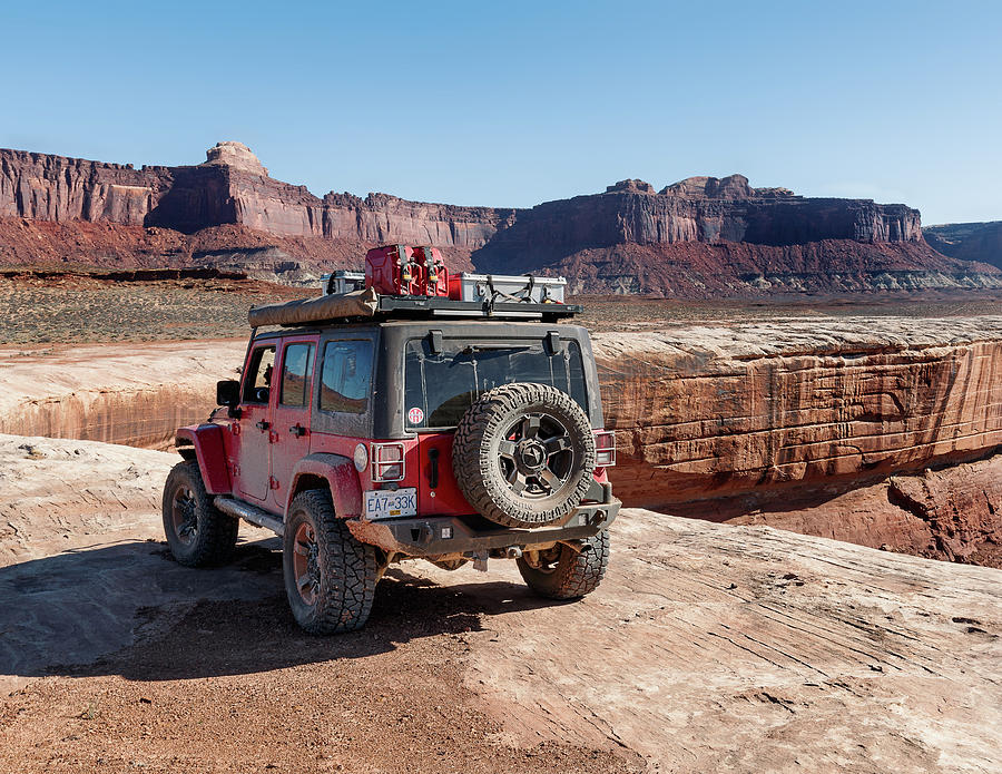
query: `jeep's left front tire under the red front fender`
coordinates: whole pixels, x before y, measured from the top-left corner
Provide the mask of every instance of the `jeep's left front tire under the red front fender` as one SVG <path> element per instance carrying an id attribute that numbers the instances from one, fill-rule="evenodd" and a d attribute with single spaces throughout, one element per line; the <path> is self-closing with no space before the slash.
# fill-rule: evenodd
<path id="1" fill-rule="evenodd" d="M 213 504 L 198 462 L 178 462 L 164 484 L 164 533 L 179 565 L 214 567 L 233 556 L 240 522 Z"/>

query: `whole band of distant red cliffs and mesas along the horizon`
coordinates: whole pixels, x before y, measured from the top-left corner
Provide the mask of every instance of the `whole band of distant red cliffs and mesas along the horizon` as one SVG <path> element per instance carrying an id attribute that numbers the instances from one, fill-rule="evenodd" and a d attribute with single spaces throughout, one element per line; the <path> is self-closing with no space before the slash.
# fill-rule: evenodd
<path id="1" fill-rule="evenodd" d="M 777 287 L 863 290 L 1002 282 L 1002 275 L 985 266 L 930 249 L 916 209 L 863 199 L 804 198 L 786 188 L 753 188 L 741 175 L 690 177 L 659 192 L 644 180 L 622 180 L 603 194 L 531 209 L 499 209 L 409 202 L 386 194 L 363 199 L 330 193 L 318 198 L 304 186 L 269 177 L 239 143 L 220 143 L 206 156 L 198 166 L 134 169 L 0 150 L 0 219 L 27 218 L 70 228 L 90 222 L 181 234 L 236 225 L 271 238 L 269 246 L 279 251 L 283 265 L 303 262 L 308 266 L 334 256 L 340 261 L 355 249 L 352 245 L 361 251 L 387 242 L 432 244 L 446 248 L 459 268 L 472 261 L 477 268 L 495 273 L 563 273 L 579 292 L 685 296 Z M 136 238 L 132 234 L 116 233 L 111 239 L 116 255 L 127 251 L 122 245 Z M 94 234 L 88 233 L 87 239 L 92 243 Z M 58 238 L 49 241 L 46 255 L 58 254 Z M 144 259 L 135 263 L 155 264 L 148 251 L 150 239 L 143 236 L 140 241 L 143 246 L 137 243 L 136 249 Z M 24 262 L 27 256 L 31 262 L 31 242 L 21 242 L 16 249 L 0 245 L 0 258 Z M 69 239 L 66 246 L 71 259 L 86 262 L 100 254 L 96 246 L 72 257 L 78 242 Z M 323 246 L 333 244 L 336 249 Z M 234 259 L 225 245 L 217 252 Z M 190 246 L 179 248 L 165 263 L 195 261 L 196 253 Z M 212 259 L 206 254 L 200 257 Z M 907 276 L 895 275 L 888 284 L 883 276 L 887 271 Z"/>

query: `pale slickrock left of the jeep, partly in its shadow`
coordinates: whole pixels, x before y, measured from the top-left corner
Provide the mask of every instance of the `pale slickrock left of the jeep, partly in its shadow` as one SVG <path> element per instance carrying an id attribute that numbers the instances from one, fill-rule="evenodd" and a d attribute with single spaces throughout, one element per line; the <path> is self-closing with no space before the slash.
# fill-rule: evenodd
<path id="1" fill-rule="evenodd" d="M 239 560 L 199 577 L 147 542 L 163 539 L 164 481 L 179 459 L 0 434 L 0 695 L 47 664 L 89 663 L 128 645 L 140 608 L 173 605 L 170 615 L 180 615 L 198 598 L 261 594 Z M 271 535 L 252 526 L 243 532 Z M 0 722 L 0 738 L 2 729 Z"/>

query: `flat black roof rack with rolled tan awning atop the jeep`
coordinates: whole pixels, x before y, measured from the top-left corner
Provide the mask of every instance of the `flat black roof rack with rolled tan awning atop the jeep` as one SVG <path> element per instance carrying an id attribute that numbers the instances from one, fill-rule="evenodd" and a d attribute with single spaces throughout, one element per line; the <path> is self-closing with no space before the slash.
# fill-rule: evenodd
<path id="1" fill-rule="evenodd" d="M 364 291 L 256 306 L 247 314 L 247 321 L 252 327 L 431 317 L 553 322 L 572 317 L 580 311 L 581 306 L 578 304 L 537 303 L 530 300 L 499 302 L 493 297 L 483 301 L 454 301 L 442 296 L 380 295 L 366 287 Z"/>

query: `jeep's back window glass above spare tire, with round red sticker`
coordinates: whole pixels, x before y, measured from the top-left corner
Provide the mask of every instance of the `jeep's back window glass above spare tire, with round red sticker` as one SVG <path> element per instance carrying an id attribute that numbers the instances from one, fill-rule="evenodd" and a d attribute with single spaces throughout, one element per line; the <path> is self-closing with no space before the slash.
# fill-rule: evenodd
<path id="1" fill-rule="evenodd" d="M 443 342 L 432 354 L 428 339 L 413 339 L 405 351 L 404 414 L 411 429 L 459 424 L 473 401 L 488 390 L 513 382 L 549 384 L 568 393 L 588 413 L 584 366 L 576 341 L 550 353 L 542 341 Z"/>

